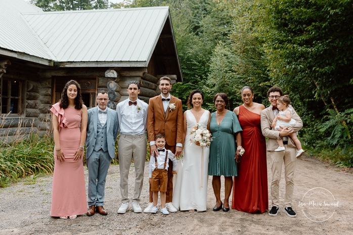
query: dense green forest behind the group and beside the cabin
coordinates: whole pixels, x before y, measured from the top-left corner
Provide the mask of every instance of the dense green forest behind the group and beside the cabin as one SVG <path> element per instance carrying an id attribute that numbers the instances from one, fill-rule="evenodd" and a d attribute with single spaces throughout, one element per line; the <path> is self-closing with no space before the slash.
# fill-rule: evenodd
<path id="1" fill-rule="evenodd" d="M 229 109 L 251 86 L 269 106 L 267 90 L 289 95 L 304 127 L 306 153 L 353 166 L 353 0 L 31 0 L 45 11 L 169 6 L 184 82 L 173 95 L 226 92 Z"/>

